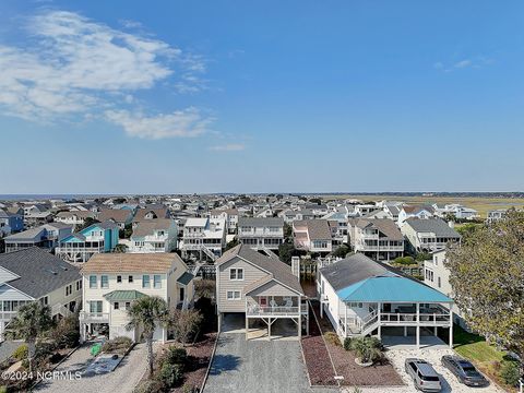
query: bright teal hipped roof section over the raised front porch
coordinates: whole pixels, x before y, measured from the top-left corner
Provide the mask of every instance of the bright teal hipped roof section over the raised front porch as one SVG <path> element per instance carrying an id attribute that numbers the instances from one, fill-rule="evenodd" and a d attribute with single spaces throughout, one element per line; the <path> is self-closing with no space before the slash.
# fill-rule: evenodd
<path id="1" fill-rule="evenodd" d="M 440 291 L 401 276 L 369 277 L 337 290 L 336 295 L 355 302 L 453 302 Z"/>

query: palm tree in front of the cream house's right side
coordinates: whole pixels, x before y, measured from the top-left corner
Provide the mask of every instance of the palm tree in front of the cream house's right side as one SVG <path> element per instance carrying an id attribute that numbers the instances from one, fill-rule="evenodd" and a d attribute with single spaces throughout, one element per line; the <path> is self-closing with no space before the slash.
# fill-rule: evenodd
<path id="1" fill-rule="evenodd" d="M 147 345 L 147 362 L 150 365 L 150 378 L 153 377 L 153 334 L 158 325 L 166 325 L 169 321 L 169 309 L 166 301 L 158 296 L 145 296 L 131 305 L 128 310 L 130 319 L 127 330 L 143 329 L 143 335 Z"/>

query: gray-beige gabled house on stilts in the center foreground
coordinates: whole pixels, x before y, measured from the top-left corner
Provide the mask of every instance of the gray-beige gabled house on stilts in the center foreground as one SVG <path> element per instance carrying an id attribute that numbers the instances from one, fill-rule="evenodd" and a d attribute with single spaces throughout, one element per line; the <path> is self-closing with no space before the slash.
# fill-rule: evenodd
<path id="1" fill-rule="evenodd" d="M 238 245 L 215 262 L 222 331 L 251 338 L 300 338 L 309 313 L 299 277 L 271 251 Z"/>

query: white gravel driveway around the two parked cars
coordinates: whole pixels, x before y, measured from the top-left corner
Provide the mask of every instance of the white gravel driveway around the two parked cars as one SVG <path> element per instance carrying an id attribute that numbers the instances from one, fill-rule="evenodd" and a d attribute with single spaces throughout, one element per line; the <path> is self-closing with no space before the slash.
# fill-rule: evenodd
<path id="1" fill-rule="evenodd" d="M 490 384 L 486 388 L 468 388 L 458 382 L 455 376 L 453 376 L 446 368 L 442 367 L 440 364 L 440 358 L 444 355 L 456 355 L 453 350 L 449 348 L 428 348 L 428 349 L 391 349 L 386 353 L 388 358 L 391 360 L 393 367 L 398 371 L 402 379 L 407 383 L 405 388 L 391 388 L 388 389 L 388 393 L 413 393 L 418 392 L 415 389 L 415 385 L 412 379 L 404 371 L 404 360 L 409 357 L 421 358 L 426 361 L 429 361 L 434 370 L 440 374 L 441 380 L 445 380 L 442 384 L 442 393 L 503 393 L 504 391 L 497 388 L 495 384 Z M 382 389 L 362 389 L 362 393 L 382 393 Z M 346 392 L 353 392 L 350 389 Z"/>

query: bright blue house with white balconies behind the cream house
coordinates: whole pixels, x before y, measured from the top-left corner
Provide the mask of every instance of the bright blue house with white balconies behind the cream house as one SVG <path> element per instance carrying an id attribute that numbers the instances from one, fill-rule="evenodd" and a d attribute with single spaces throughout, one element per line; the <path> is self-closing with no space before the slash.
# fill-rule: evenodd
<path id="1" fill-rule="evenodd" d="M 111 252 L 118 245 L 118 230 L 112 221 L 93 224 L 61 240 L 57 255 L 71 262 L 86 262 L 95 253 Z"/>

